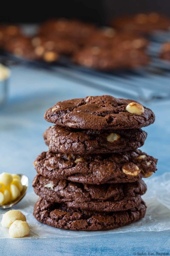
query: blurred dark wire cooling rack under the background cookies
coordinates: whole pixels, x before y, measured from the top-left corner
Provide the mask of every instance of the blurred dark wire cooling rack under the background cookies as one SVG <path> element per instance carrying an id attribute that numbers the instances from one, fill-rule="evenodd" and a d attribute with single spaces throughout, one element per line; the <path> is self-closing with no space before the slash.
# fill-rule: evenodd
<path id="1" fill-rule="evenodd" d="M 108 93 L 119 93 L 125 98 L 142 101 L 170 99 L 170 62 L 159 58 L 163 42 L 170 41 L 170 31 L 156 31 L 150 35 L 148 66 L 132 71 L 101 72 L 75 65 L 69 58 L 61 57 L 57 63 L 27 61 L 11 55 L 1 55 L 1 61 L 22 63 L 30 67 L 45 68 L 54 75 L 64 76 L 85 84 L 85 86 L 104 89 Z"/>

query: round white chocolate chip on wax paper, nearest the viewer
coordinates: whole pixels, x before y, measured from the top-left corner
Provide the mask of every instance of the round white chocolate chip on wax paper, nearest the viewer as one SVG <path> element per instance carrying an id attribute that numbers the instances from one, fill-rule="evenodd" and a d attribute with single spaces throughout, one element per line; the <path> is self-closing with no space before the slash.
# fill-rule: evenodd
<path id="1" fill-rule="evenodd" d="M 29 233 L 30 227 L 26 221 L 15 220 L 9 228 L 11 237 L 26 237 Z"/>

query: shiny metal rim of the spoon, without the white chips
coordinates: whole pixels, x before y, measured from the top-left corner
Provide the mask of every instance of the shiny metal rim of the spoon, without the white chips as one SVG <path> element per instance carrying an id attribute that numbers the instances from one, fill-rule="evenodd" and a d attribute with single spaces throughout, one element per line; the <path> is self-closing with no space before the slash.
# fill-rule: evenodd
<path id="1" fill-rule="evenodd" d="M 20 176 L 21 178 L 21 184 L 23 185 L 23 189 L 21 191 L 21 195 L 19 197 L 16 198 L 15 201 L 11 201 L 6 205 L 0 205 L 0 209 L 7 209 L 7 208 L 11 208 L 13 205 L 16 205 L 19 201 L 21 201 L 21 199 L 25 196 L 25 194 L 27 193 L 28 190 L 28 185 L 29 185 L 29 180 L 28 177 L 24 174 L 17 174 L 18 176 Z"/>

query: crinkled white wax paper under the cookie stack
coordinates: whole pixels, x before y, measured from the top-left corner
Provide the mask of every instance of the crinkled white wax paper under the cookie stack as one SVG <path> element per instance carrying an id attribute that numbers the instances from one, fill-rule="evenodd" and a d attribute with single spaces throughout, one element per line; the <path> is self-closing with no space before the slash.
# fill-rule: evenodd
<path id="1" fill-rule="evenodd" d="M 170 229 L 170 173 L 145 179 L 148 190 L 142 196 L 147 204 L 145 218 L 117 229 L 106 231 L 71 231 L 49 227 L 38 222 L 32 215 L 34 204 L 38 198 L 35 194 L 28 193 L 13 209 L 23 212 L 30 225 L 31 233 L 26 238 L 46 237 L 80 237 L 105 233 L 122 233 L 135 231 L 163 231 Z M 0 210 L 0 221 L 7 211 Z M 0 226 L 0 238 L 10 238 L 8 228 Z"/>

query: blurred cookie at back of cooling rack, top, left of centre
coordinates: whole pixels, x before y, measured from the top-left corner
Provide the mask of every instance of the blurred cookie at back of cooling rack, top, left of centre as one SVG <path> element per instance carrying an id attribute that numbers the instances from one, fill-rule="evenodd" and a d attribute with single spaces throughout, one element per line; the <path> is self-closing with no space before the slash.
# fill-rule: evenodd
<path id="1" fill-rule="evenodd" d="M 48 38 L 51 36 L 73 41 L 82 45 L 84 40 L 89 38 L 95 30 L 95 25 L 83 23 L 78 20 L 51 19 L 40 26 L 39 34 Z"/>

